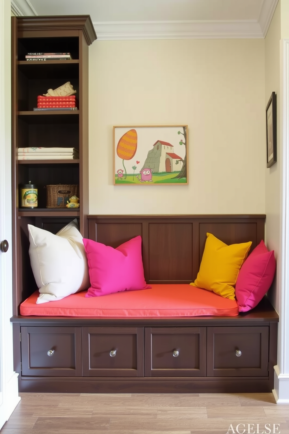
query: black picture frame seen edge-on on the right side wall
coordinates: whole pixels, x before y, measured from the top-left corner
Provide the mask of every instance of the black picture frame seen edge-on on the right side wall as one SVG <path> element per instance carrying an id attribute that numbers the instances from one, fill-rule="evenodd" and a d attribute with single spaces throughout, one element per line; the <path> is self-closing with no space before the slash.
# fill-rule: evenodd
<path id="1" fill-rule="evenodd" d="M 267 168 L 277 161 L 277 104 L 276 93 L 272 92 L 266 106 Z"/>

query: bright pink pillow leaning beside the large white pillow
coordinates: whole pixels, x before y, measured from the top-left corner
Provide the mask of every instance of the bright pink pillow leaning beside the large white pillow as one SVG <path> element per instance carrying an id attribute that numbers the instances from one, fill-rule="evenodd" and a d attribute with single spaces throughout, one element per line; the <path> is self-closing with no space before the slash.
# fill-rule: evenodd
<path id="1" fill-rule="evenodd" d="M 91 287 L 85 297 L 104 296 L 120 291 L 148 289 L 143 274 L 140 235 L 114 249 L 83 239 Z"/>

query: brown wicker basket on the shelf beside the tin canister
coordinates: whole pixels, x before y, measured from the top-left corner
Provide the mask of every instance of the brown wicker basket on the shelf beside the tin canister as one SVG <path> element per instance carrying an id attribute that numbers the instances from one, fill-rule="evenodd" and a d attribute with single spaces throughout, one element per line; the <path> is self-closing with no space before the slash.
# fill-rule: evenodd
<path id="1" fill-rule="evenodd" d="M 69 197 L 79 197 L 77 184 L 51 184 L 46 185 L 46 190 L 46 208 L 66 208 Z"/>

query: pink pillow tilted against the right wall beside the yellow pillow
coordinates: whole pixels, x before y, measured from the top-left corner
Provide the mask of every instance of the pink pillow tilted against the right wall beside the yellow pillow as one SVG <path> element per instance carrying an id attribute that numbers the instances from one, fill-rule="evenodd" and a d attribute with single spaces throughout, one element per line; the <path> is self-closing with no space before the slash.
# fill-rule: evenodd
<path id="1" fill-rule="evenodd" d="M 270 288 L 276 270 L 274 250 L 268 251 L 262 240 L 241 266 L 235 296 L 239 312 L 247 312 L 261 301 Z"/>

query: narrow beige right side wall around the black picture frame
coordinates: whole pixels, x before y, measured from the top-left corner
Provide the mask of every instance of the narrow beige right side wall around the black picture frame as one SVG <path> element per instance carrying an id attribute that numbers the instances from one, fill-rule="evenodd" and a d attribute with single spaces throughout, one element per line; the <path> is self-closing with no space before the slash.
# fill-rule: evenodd
<path id="1" fill-rule="evenodd" d="M 275 309 L 279 312 L 279 288 L 281 279 L 280 258 L 280 189 L 282 149 L 280 141 L 280 39 L 281 39 L 281 4 L 277 4 L 273 19 L 265 38 L 265 102 L 264 107 L 272 92 L 276 92 L 277 100 L 277 162 L 271 168 L 266 169 L 265 196 L 266 196 L 266 243 L 270 250 L 275 250 L 277 260 L 277 273 L 269 296 Z M 264 112 L 264 116 L 265 112 Z M 265 142 L 266 143 L 266 142 Z M 278 291 L 276 290 L 278 288 Z"/>

